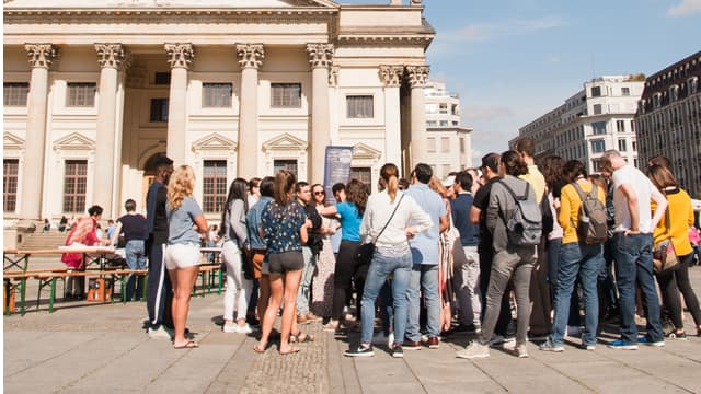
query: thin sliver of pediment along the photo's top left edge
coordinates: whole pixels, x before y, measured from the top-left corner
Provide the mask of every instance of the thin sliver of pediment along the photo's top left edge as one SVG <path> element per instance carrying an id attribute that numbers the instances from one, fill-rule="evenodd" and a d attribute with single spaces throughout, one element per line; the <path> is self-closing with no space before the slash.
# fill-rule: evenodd
<path id="1" fill-rule="evenodd" d="M 10 0 L 4 9 L 261 9 L 338 8 L 330 0 Z"/>

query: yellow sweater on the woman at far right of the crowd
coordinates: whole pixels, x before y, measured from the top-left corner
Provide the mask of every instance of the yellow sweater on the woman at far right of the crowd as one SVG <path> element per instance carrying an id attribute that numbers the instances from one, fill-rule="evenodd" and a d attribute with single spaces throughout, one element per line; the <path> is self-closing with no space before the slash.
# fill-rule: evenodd
<path id="1" fill-rule="evenodd" d="M 687 192 L 676 189 L 667 192 L 667 200 L 669 205 L 669 232 L 667 231 L 667 215 L 662 217 L 659 223 L 653 232 L 655 239 L 654 245 L 671 235 L 671 243 L 675 245 L 677 256 L 686 256 L 692 252 L 691 242 L 689 242 L 689 227 L 693 225 L 693 208 L 691 207 L 691 198 Z M 652 211 L 655 211 L 655 204 L 652 205 Z"/>

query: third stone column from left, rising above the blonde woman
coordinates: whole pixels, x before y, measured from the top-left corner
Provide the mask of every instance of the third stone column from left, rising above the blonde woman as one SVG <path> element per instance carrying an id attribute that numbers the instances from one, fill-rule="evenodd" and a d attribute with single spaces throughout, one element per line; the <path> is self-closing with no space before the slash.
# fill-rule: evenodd
<path id="1" fill-rule="evenodd" d="M 171 92 L 168 103 L 168 143 L 165 152 L 174 165 L 185 164 L 185 134 L 187 131 L 187 69 L 192 62 L 193 45 L 165 44 L 171 65 Z"/>

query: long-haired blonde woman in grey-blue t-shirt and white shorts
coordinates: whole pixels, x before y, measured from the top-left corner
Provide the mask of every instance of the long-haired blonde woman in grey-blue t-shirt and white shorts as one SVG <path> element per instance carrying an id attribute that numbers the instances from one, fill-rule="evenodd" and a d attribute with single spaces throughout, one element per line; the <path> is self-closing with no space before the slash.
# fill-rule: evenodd
<path id="1" fill-rule="evenodd" d="M 175 349 L 197 348 L 199 345 L 185 337 L 185 323 L 189 311 L 189 294 L 197 279 L 202 262 L 200 239 L 208 234 L 207 220 L 193 198 L 195 172 L 189 165 L 179 166 L 168 183 L 168 246 L 165 267 L 173 283 L 173 325 Z"/>

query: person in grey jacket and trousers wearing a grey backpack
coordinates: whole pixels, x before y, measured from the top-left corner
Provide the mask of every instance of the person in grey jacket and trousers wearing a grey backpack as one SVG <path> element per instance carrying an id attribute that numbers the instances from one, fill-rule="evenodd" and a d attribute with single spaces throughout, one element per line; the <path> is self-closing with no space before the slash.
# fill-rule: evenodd
<path id="1" fill-rule="evenodd" d="M 486 228 L 493 236 L 494 259 L 486 294 L 484 322 L 480 337 L 456 354 L 459 358 L 490 357 L 490 340 L 499 316 L 502 294 L 512 276 L 516 292 L 518 325 L 516 346 L 519 358 L 526 349 L 530 315 L 530 276 L 536 264 L 536 244 L 542 233 L 541 212 L 536 193 L 529 183 L 517 178 L 528 171 L 520 154 L 507 151 L 499 161 L 503 179 L 492 185 L 486 211 Z"/>

